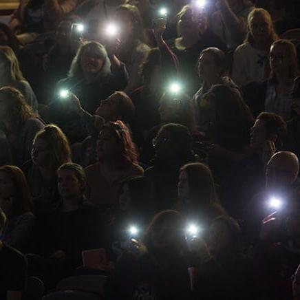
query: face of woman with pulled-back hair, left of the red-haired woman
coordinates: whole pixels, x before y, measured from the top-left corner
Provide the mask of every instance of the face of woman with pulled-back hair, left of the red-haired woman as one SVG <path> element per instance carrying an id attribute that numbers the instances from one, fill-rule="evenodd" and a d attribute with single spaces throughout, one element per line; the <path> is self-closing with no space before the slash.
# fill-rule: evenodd
<path id="1" fill-rule="evenodd" d="M 58 171 L 57 186 L 59 195 L 65 199 L 80 197 L 84 188 L 84 184 L 78 180 L 74 171 L 67 169 Z"/>

